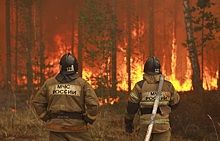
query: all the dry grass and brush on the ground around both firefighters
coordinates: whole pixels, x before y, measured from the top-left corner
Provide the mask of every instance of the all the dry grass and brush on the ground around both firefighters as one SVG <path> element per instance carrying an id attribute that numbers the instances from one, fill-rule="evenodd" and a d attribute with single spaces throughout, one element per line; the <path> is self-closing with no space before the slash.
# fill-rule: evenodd
<path id="1" fill-rule="evenodd" d="M 16 108 L 8 108 L 7 100 L 0 95 L 0 140 L 46 141 L 48 131 L 36 116 L 29 100 L 19 99 Z M 94 124 L 89 125 L 93 141 L 135 141 L 136 133 L 124 130 L 124 112 L 127 93 L 121 93 L 117 103 L 100 107 Z M 219 141 L 220 139 L 220 94 L 217 91 L 194 94 L 180 93 L 181 101 L 170 115 L 171 141 Z M 138 116 L 134 120 L 135 127 Z"/>

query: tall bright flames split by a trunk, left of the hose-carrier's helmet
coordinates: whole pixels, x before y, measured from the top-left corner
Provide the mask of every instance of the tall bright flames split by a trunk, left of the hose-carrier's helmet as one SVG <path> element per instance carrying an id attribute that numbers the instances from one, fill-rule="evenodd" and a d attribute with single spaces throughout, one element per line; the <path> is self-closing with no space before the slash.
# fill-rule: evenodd
<path id="1" fill-rule="evenodd" d="M 126 26 L 125 26 L 126 27 Z M 132 54 L 135 54 L 135 56 L 131 56 L 130 58 L 130 65 L 131 65 L 131 87 L 134 87 L 135 83 L 143 79 L 143 52 L 140 45 L 141 37 L 144 35 L 145 26 L 144 23 L 138 22 L 136 25 L 133 25 L 132 27 L 135 27 L 131 31 L 131 37 L 133 48 L 132 48 Z M 128 72 L 127 72 L 127 46 L 128 42 L 127 39 L 124 38 L 124 46 L 118 45 L 118 50 L 121 52 L 124 56 L 123 58 L 120 58 L 122 56 L 121 54 L 118 55 L 119 58 L 117 60 L 117 63 L 119 64 L 117 67 L 117 80 L 119 81 L 117 85 L 117 90 L 123 90 L 128 91 Z"/>

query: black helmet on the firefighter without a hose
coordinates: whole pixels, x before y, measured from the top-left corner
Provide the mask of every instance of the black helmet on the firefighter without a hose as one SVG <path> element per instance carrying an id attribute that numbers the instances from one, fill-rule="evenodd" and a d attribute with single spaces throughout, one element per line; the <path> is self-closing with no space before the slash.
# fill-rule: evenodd
<path id="1" fill-rule="evenodd" d="M 60 72 L 63 74 L 75 74 L 78 72 L 78 62 L 76 57 L 67 53 L 60 59 Z"/>

